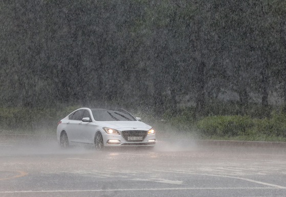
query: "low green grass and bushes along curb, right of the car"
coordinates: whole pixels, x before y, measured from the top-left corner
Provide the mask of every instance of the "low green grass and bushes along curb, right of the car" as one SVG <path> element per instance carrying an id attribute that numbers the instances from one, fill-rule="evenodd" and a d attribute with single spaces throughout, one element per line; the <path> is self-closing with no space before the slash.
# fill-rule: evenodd
<path id="1" fill-rule="evenodd" d="M 175 117 L 165 114 L 173 130 L 191 131 L 197 139 L 286 142 L 286 114 L 273 111 L 269 117 L 218 115 L 194 119 L 182 111 Z"/>

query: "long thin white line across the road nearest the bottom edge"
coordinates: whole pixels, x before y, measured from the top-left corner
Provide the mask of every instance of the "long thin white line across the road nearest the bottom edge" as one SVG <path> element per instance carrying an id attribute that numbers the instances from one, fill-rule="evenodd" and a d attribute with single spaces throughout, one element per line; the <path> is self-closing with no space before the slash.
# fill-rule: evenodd
<path id="1" fill-rule="evenodd" d="M 284 189 L 273 187 L 199 187 L 199 188 L 147 188 L 147 189 L 93 189 L 93 190 L 40 190 L 40 191 L 0 191 L 0 193 L 48 193 L 48 192 L 96 192 L 96 191 L 157 191 L 157 190 L 213 190 L 213 189 Z"/>

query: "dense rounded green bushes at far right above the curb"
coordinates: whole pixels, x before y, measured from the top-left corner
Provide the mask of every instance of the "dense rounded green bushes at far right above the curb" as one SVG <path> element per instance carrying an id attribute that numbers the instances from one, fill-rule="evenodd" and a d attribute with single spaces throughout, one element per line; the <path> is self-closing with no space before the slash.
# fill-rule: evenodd
<path id="1" fill-rule="evenodd" d="M 205 137 L 247 136 L 248 139 L 286 138 L 286 114 L 273 112 L 270 118 L 250 116 L 208 116 L 195 122 Z M 269 141 L 269 140 L 268 140 Z"/>

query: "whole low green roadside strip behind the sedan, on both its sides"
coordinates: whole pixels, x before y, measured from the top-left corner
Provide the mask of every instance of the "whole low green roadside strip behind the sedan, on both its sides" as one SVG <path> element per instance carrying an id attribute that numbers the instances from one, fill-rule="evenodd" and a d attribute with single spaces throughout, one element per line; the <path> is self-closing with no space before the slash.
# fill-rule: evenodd
<path id="1" fill-rule="evenodd" d="M 55 134 L 57 122 L 80 106 L 62 108 L 0 107 L 0 133 Z M 164 121 L 148 113 L 134 113 L 158 130 L 158 135 L 186 134 L 193 139 L 286 142 L 286 114 L 273 111 L 268 117 L 209 115 L 195 117 L 193 108 L 177 114 L 167 111 Z M 175 135 L 174 135 L 175 136 Z"/>

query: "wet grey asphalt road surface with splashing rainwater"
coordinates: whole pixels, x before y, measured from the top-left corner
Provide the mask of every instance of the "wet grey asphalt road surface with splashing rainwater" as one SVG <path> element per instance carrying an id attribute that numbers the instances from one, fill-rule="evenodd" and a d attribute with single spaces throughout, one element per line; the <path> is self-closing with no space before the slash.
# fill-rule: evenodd
<path id="1" fill-rule="evenodd" d="M 0 196 L 286 196 L 286 149 L 197 146 L 62 150 L 0 141 Z"/>

